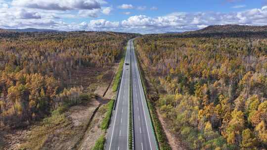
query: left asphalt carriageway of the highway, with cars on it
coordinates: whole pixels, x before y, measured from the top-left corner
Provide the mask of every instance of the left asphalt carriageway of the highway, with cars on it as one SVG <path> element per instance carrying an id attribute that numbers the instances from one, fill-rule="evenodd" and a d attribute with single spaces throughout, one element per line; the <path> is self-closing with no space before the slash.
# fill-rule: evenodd
<path id="1" fill-rule="evenodd" d="M 125 63 L 130 63 L 130 42 L 128 42 Z M 115 110 L 112 112 L 107 133 L 105 150 L 128 150 L 130 65 L 125 65 Z"/>

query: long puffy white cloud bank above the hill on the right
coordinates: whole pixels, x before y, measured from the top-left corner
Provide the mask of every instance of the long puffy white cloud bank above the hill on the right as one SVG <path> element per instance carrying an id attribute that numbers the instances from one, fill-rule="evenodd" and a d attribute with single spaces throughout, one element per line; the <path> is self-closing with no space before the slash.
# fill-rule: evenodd
<path id="1" fill-rule="evenodd" d="M 149 17 L 145 15 L 131 16 L 122 21 L 122 26 L 143 32 L 189 31 L 205 28 L 209 25 L 266 25 L 267 6 L 240 12 L 175 12 L 166 16 Z M 137 31 L 137 30 L 136 30 Z"/>

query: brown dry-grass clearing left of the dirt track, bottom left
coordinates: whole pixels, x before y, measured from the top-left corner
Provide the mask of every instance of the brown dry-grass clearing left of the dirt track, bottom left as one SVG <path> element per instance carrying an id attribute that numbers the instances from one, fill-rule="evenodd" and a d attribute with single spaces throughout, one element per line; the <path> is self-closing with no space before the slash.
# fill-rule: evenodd
<path id="1" fill-rule="evenodd" d="M 70 107 L 63 114 L 52 115 L 26 130 L 6 132 L 3 150 L 73 150 L 83 138 L 98 106 L 99 103 L 92 99 Z"/>

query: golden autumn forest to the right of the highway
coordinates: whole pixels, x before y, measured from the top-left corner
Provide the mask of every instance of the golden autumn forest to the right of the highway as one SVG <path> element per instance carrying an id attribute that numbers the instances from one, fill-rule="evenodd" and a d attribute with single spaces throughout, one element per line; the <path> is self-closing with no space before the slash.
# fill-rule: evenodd
<path id="1" fill-rule="evenodd" d="M 136 38 L 149 97 L 188 149 L 267 148 L 267 38 L 263 37 L 264 33 L 255 32 Z"/>

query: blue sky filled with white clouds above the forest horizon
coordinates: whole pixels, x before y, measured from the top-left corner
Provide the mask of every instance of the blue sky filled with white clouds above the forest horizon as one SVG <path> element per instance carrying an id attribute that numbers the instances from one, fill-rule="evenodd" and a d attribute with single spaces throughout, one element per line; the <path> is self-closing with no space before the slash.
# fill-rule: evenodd
<path id="1" fill-rule="evenodd" d="M 0 0 L 0 28 L 164 33 L 267 25 L 267 0 Z"/>

